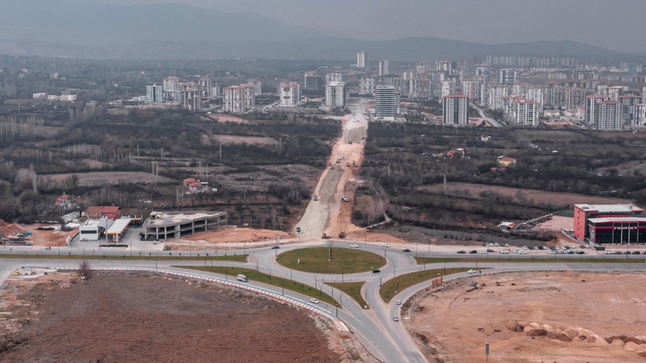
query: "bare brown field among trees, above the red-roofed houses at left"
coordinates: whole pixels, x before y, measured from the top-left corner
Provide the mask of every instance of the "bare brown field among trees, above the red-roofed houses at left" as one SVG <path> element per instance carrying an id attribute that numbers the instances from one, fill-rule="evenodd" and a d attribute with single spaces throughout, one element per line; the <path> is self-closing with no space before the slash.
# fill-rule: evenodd
<path id="1" fill-rule="evenodd" d="M 95 171 L 68 174 L 43 174 L 39 182 L 60 183 L 72 175 L 79 177 L 80 187 L 98 187 L 101 185 L 116 185 L 127 183 L 152 183 L 155 176 L 149 172 L 141 171 Z M 171 183 L 172 180 L 165 176 L 158 176 L 157 183 Z"/>

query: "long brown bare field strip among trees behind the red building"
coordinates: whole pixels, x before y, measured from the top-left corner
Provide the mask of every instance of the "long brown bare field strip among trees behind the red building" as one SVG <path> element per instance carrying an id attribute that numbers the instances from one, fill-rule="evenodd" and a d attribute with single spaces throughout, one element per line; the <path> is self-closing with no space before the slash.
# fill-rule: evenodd
<path id="1" fill-rule="evenodd" d="M 444 190 L 444 185 L 443 184 L 424 185 L 419 189 L 438 193 Z M 518 191 L 522 191 L 523 194 L 525 194 L 525 198 L 527 200 L 534 200 L 535 203 L 552 203 L 555 205 L 578 204 L 578 203 L 589 203 L 589 204 L 632 203 L 630 202 L 630 200 L 625 200 L 621 198 L 609 198 L 609 197 L 603 197 L 603 196 L 588 196 L 588 195 L 574 194 L 574 193 L 537 191 L 535 189 L 521 189 L 521 188 L 501 187 L 497 185 L 484 185 L 484 184 L 474 184 L 474 183 L 461 183 L 461 182 L 446 183 L 446 192 L 455 192 L 455 191 L 469 191 L 471 193 L 471 196 L 476 198 L 478 197 L 478 194 L 484 191 L 497 192 L 498 194 L 513 196 L 514 198 L 516 198 L 516 193 Z"/>

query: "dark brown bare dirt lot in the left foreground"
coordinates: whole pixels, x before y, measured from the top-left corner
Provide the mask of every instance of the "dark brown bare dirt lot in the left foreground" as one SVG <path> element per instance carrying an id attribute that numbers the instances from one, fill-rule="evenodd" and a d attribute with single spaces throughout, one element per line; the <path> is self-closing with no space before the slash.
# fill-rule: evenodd
<path id="1" fill-rule="evenodd" d="M 262 296 L 161 276 L 44 277 L 3 291 L 3 338 L 19 342 L 3 362 L 339 362 L 320 318 Z"/>

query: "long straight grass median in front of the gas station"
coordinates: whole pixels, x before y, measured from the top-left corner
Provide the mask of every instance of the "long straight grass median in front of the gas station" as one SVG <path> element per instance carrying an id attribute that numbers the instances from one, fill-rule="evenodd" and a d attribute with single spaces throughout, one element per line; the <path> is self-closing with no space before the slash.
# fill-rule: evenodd
<path id="1" fill-rule="evenodd" d="M 184 254 L 180 256 L 178 253 L 173 253 L 169 255 L 165 252 L 164 256 L 156 256 L 154 254 L 133 254 L 130 256 L 130 253 L 123 254 L 67 254 L 63 253 L 58 254 L 22 254 L 22 253 L 4 253 L 0 254 L 0 258 L 42 258 L 42 259 L 61 259 L 61 260 L 186 260 L 186 261 L 233 261 L 233 262 L 247 262 L 247 257 L 249 254 L 229 254 L 227 256 L 187 256 Z"/>

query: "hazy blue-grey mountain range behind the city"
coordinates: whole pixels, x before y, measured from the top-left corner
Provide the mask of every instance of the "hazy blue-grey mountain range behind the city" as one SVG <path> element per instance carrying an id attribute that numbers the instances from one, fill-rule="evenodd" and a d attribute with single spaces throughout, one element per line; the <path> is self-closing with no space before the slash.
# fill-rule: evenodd
<path id="1" fill-rule="evenodd" d="M 328 37 L 253 13 L 160 3 L 113 6 L 82 0 L 0 0 L 0 54 L 114 59 L 452 59 L 497 54 L 625 59 L 574 41 L 484 45 L 437 37 L 362 41 Z"/>

